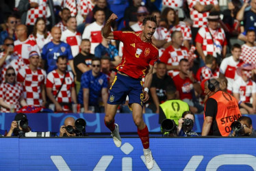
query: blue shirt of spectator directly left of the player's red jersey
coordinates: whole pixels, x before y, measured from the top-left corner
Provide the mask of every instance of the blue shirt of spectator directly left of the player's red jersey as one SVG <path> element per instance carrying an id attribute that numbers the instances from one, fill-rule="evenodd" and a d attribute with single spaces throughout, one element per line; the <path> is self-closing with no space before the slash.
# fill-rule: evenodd
<path id="1" fill-rule="evenodd" d="M 94 56 L 101 58 L 103 55 L 109 56 L 110 60 L 114 61 L 114 57 L 118 56 L 118 50 L 112 44 L 108 44 L 109 48 L 99 44 L 94 50 Z"/>

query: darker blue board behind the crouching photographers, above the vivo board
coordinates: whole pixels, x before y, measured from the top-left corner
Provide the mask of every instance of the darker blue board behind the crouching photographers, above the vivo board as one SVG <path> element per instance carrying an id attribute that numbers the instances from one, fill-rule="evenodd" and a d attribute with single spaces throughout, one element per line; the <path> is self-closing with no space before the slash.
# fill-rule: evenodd
<path id="1" fill-rule="evenodd" d="M 0 129 L 9 130 L 12 120 L 16 114 L 0 113 Z M 40 132 L 58 132 L 60 126 L 64 124 L 64 120 L 73 116 L 74 118 L 84 118 L 86 120 L 87 133 L 109 133 L 109 129 L 105 127 L 105 114 L 27 114 L 29 126 L 33 131 Z M 248 115 L 244 115 L 248 116 Z M 256 115 L 249 115 L 253 120 L 253 127 L 256 128 Z M 143 118 L 150 132 L 160 132 L 160 124 L 158 124 L 158 114 L 144 114 Z M 137 132 L 137 127 L 133 124 L 131 114 L 116 114 L 116 123 L 120 126 L 120 132 Z M 195 115 L 193 130 L 201 133 L 203 127 L 203 114 Z"/>

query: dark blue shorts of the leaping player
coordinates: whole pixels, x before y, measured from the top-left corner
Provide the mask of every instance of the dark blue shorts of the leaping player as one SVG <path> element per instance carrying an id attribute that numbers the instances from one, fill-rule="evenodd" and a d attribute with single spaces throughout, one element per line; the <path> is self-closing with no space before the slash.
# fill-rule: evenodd
<path id="1" fill-rule="evenodd" d="M 138 103 L 143 106 L 144 94 L 142 92 L 142 80 L 117 74 L 110 87 L 110 97 L 107 103 L 110 105 L 125 104 L 126 96 L 129 96 L 129 105 Z"/>

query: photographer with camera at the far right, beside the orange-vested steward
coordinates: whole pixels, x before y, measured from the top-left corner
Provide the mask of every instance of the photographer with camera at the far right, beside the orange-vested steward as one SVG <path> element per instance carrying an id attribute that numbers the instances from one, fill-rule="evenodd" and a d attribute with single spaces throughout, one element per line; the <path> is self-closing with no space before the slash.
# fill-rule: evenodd
<path id="1" fill-rule="evenodd" d="M 238 119 L 240 125 L 235 125 L 235 121 L 231 124 L 231 129 L 233 129 L 233 133 L 230 133 L 229 136 L 248 136 L 248 137 L 256 137 L 256 131 L 253 129 L 253 123 L 251 118 L 247 116 L 241 116 Z"/>

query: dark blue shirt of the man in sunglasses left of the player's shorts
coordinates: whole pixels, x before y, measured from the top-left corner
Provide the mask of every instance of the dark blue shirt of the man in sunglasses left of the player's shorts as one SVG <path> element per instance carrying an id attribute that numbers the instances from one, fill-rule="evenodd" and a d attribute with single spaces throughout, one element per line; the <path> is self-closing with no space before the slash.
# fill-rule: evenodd
<path id="1" fill-rule="evenodd" d="M 78 94 L 78 102 L 84 104 L 83 88 L 89 89 L 89 105 L 99 105 L 101 89 L 107 88 L 107 76 L 100 73 L 98 77 L 92 75 L 92 70 L 81 75 L 81 88 Z"/>

